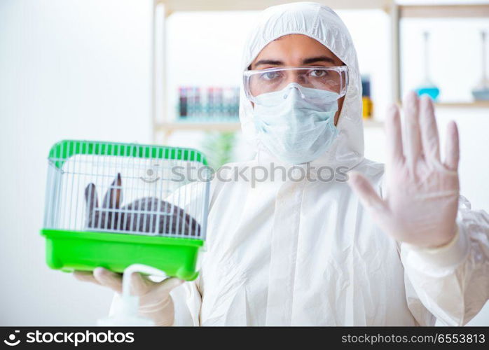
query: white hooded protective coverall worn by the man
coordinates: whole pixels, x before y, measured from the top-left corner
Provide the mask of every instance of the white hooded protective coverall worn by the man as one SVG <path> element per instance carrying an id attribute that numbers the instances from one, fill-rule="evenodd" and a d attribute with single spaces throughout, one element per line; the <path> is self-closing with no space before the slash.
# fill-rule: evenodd
<path id="1" fill-rule="evenodd" d="M 247 39 L 242 69 L 287 34 L 315 38 L 349 69 L 338 137 L 310 166 L 354 169 L 382 193 L 383 165 L 364 158 L 357 55 L 333 10 L 311 2 L 264 10 Z M 281 165 L 256 139 L 243 85 L 240 120 L 257 155 L 228 165 L 235 168 L 228 170 L 233 181 L 212 182 L 207 251 L 198 279 L 171 293 L 175 325 L 434 325 L 436 318 L 463 325 L 483 307 L 488 214 L 471 211 L 461 197 L 453 244 L 409 248 L 376 227 L 344 181 L 315 181 L 314 170 L 309 180 L 282 181 L 277 172 L 273 181 L 235 181 L 235 171 L 249 178 L 252 167 Z"/>

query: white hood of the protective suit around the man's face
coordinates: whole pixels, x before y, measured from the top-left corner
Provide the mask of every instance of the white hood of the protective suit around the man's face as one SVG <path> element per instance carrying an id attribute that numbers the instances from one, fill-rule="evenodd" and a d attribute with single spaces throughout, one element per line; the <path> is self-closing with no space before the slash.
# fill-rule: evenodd
<path id="1" fill-rule="evenodd" d="M 349 70 L 347 93 L 336 125 L 338 137 L 328 151 L 312 161 L 311 165 L 357 165 L 364 156 L 361 79 L 357 52 L 345 24 L 331 8 L 314 2 L 296 2 L 264 10 L 247 37 L 242 55 L 243 71 L 247 70 L 268 43 L 287 34 L 303 34 L 314 38 L 345 62 Z M 263 155 L 268 151 L 259 143 L 253 123 L 253 106 L 245 95 L 243 83 L 240 87 L 240 121 L 245 138 L 257 148 L 259 158 L 263 159 L 265 156 L 273 159 L 273 155 Z"/>

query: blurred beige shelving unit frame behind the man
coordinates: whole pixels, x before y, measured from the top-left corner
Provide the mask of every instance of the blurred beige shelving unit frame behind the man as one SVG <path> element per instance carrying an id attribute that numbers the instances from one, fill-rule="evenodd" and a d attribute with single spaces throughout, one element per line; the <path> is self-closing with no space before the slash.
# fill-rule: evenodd
<path id="1" fill-rule="evenodd" d="M 153 141 L 165 144 L 167 137 L 177 130 L 200 130 L 233 132 L 240 130 L 240 124 L 221 121 L 207 123 L 177 123 L 171 121 L 170 116 L 158 107 L 157 101 L 162 99 L 161 105 L 169 104 L 167 96 L 167 66 L 165 53 L 167 52 L 167 38 L 165 27 L 167 18 L 179 11 L 235 11 L 235 10 L 263 10 L 268 6 L 288 3 L 289 0 L 153 0 L 152 16 L 152 114 L 153 114 Z M 485 18 L 489 17 L 487 3 L 462 4 L 408 4 L 396 0 L 329 0 L 328 6 L 337 10 L 345 9 L 381 9 L 390 17 L 390 52 L 391 52 L 391 82 L 392 102 L 399 102 L 401 96 L 401 60 L 399 45 L 399 24 L 403 18 Z M 160 97 L 158 97 L 160 96 Z M 467 103 L 438 103 L 439 108 L 489 108 L 489 102 Z M 381 121 L 364 120 L 364 127 L 383 127 Z"/>

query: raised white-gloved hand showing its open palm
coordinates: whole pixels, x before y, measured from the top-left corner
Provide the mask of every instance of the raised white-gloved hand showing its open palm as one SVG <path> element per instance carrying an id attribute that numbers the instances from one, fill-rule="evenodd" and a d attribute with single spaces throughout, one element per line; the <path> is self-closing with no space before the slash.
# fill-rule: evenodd
<path id="1" fill-rule="evenodd" d="M 446 160 L 441 162 L 432 100 L 410 92 L 404 99 L 404 146 L 399 109 L 385 120 L 387 195 L 379 197 L 364 176 L 350 173 L 349 184 L 379 227 L 398 241 L 422 248 L 448 244 L 456 233 L 459 199 L 458 132 L 448 124 Z"/>

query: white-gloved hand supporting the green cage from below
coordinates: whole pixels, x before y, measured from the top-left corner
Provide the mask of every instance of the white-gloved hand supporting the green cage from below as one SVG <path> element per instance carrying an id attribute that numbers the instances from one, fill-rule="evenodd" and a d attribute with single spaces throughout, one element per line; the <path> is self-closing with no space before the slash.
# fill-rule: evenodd
<path id="1" fill-rule="evenodd" d="M 122 274 L 103 267 L 97 267 L 93 273 L 75 271 L 74 276 L 80 281 L 97 283 L 111 288 L 116 293 L 122 293 Z M 132 274 L 131 295 L 139 296 L 139 314 L 151 319 L 155 325 L 173 325 L 174 305 L 170 291 L 184 282 L 172 277 L 156 283 L 139 273 Z"/>

